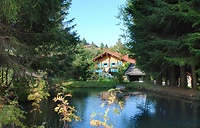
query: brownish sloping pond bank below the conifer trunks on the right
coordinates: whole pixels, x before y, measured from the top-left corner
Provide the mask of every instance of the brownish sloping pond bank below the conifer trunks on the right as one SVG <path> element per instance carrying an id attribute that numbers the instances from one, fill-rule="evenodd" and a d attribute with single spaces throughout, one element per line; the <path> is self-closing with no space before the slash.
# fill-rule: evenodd
<path id="1" fill-rule="evenodd" d="M 200 101 L 199 90 L 185 89 L 178 86 L 160 86 L 151 83 L 134 83 L 132 86 L 131 84 L 128 84 L 127 88 L 134 88 L 138 91 L 148 91 L 160 95 L 192 100 L 194 102 Z"/>

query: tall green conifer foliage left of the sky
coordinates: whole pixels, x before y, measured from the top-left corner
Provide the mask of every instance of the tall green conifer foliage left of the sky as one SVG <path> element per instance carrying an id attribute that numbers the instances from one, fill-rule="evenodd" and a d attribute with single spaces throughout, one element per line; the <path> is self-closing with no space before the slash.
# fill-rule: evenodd
<path id="1" fill-rule="evenodd" d="M 19 74 L 40 70 L 49 76 L 70 76 L 78 42 L 73 19 L 66 17 L 71 0 L 0 3 L 0 65 Z"/>

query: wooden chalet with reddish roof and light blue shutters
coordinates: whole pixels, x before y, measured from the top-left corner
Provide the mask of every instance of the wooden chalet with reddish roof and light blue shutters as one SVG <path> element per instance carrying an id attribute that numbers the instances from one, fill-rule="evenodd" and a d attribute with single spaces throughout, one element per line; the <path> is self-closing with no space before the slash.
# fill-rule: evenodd
<path id="1" fill-rule="evenodd" d="M 126 62 L 135 64 L 135 59 L 131 59 L 128 55 L 122 55 L 118 52 L 105 51 L 93 59 L 99 68 L 96 72 L 114 73 L 118 71 L 118 67 L 124 66 Z"/>

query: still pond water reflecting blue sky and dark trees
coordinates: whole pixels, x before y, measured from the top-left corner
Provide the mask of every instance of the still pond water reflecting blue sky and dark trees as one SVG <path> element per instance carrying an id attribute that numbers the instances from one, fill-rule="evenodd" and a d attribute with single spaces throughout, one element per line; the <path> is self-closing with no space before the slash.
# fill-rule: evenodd
<path id="1" fill-rule="evenodd" d="M 116 95 L 115 103 L 108 103 L 107 90 L 75 89 L 69 98 L 71 106 L 81 117 L 80 122 L 72 122 L 70 128 L 93 128 L 93 119 L 103 121 L 109 108 L 107 124 L 114 128 L 200 128 L 200 104 L 190 101 L 164 97 L 146 92 L 123 92 Z M 119 102 L 122 102 L 120 107 Z M 104 104 L 104 106 L 102 106 Z M 52 100 L 41 103 L 42 113 L 29 113 L 31 105 L 24 106 L 27 111 L 26 124 L 44 125 L 47 128 L 62 128 L 59 115 L 54 112 L 56 104 Z M 117 111 L 118 110 L 118 111 Z"/>

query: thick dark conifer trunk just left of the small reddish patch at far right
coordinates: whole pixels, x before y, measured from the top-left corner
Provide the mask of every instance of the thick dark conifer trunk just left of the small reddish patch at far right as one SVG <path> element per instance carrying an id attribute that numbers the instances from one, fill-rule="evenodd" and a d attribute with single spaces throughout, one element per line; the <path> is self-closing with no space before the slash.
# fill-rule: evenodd
<path id="1" fill-rule="evenodd" d="M 186 77 L 185 65 L 180 67 L 180 86 L 182 88 L 186 88 L 187 87 L 187 77 Z"/>

